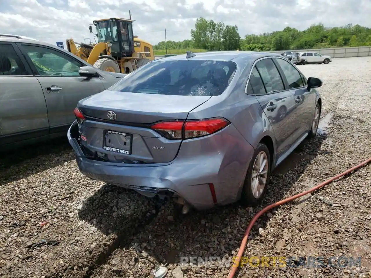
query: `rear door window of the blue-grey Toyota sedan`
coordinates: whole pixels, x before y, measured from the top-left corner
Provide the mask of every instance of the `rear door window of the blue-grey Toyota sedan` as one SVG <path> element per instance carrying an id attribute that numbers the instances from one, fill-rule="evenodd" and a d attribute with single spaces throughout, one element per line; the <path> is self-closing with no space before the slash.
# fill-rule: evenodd
<path id="1" fill-rule="evenodd" d="M 267 93 L 285 90 L 281 76 L 272 59 L 263 59 L 257 62 L 256 69 L 262 77 Z"/>

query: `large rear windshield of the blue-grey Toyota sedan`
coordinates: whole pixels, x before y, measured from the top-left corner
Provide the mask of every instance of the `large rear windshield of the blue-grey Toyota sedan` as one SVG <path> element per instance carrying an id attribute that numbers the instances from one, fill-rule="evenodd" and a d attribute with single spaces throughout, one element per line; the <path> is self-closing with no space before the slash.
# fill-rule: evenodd
<path id="1" fill-rule="evenodd" d="M 178 96 L 217 96 L 229 85 L 236 64 L 212 60 L 169 60 L 145 64 L 108 90 Z"/>

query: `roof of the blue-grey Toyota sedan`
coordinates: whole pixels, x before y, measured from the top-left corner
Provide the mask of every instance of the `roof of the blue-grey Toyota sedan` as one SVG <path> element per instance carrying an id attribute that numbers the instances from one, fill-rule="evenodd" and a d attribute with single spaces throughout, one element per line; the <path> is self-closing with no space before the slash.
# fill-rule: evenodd
<path id="1" fill-rule="evenodd" d="M 216 60 L 216 61 L 234 61 L 239 59 L 251 59 L 257 60 L 263 57 L 276 56 L 281 57 L 281 55 L 272 52 L 258 52 L 258 51 L 210 51 L 210 52 L 199 52 L 194 53 L 196 56 L 190 57 L 190 60 Z M 163 57 L 156 59 L 154 61 L 176 61 L 176 60 L 186 60 L 187 54 Z"/>

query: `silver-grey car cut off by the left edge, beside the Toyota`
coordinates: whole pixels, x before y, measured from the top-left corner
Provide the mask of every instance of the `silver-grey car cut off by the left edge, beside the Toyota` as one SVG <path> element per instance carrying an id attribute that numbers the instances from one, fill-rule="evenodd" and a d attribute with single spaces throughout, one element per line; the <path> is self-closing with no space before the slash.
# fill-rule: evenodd
<path id="1" fill-rule="evenodd" d="M 0 34 L 0 150 L 66 136 L 78 101 L 124 76 L 52 44 Z"/>

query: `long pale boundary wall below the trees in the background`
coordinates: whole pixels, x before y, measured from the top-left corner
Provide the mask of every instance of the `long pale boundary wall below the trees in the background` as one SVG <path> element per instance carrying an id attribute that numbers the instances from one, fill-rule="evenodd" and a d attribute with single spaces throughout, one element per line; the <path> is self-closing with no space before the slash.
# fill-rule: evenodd
<path id="1" fill-rule="evenodd" d="M 269 51 L 272 53 L 282 53 L 284 51 L 293 52 L 317 52 L 322 55 L 328 55 L 332 58 L 345 58 L 345 57 L 361 57 L 371 56 L 370 46 L 359 47 L 336 47 L 336 48 L 321 48 L 321 49 L 299 49 L 299 50 L 282 50 L 282 51 Z M 155 55 L 155 59 L 164 57 L 162 55 Z"/>

